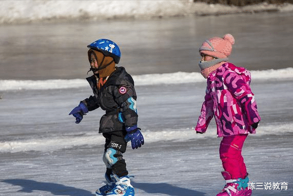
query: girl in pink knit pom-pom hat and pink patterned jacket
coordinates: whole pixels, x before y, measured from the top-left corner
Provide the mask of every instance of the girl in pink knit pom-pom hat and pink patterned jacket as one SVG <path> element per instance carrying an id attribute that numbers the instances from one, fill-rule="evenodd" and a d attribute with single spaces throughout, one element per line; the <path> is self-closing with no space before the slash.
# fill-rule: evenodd
<path id="1" fill-rule="evenodd" d="M 222 137 L 220 158 L 226 185 L 217 196 L 250 196 L 248 173 L 241 155 L 248 134 L 255 134 L 261 120 L 254 94 L 250 89 L 250 73 L 228 61 L 235 39 L 231 34 L 223 38 L 205 40 L 199 49 L 201 74 L 207 78 L 196 132 L 203 134 L 212 119 L 217 124 L 217 135 Z"/>

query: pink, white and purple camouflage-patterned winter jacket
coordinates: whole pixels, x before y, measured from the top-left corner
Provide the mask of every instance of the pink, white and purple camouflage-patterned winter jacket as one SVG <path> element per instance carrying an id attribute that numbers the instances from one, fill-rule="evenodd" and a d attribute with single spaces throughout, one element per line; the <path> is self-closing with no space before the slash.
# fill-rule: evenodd
<path id="1" fill-rule="evenodd" d="M 205 133 L 214 116 L 218 137 L 255 134 L 261 118 L 249 84 L 250 72 L 229 62 L 211 72 L 196 131 Z"/>

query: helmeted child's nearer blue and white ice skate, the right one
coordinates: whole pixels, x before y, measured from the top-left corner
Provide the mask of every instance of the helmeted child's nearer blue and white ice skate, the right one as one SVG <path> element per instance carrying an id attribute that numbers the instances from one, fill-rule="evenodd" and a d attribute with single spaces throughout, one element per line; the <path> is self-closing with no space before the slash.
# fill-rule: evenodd
<path id="1" fill-rule="evenodd" d="M 115 187 L 107 192 L 107 196 L 134 196 L 134 188 L 128 176 L 116 179 Z"/>

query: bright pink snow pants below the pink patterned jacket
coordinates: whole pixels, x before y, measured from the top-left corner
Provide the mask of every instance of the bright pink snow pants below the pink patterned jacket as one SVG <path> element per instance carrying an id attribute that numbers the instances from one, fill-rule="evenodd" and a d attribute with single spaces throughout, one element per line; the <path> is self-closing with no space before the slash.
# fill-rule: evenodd
<path id="1" fill-rule="evenodd" d="M 246 166 L 241 155 L 242 146 L 248 134 L 223 137 L 220 144 L 220 158 L 223 168 L 229 172 L 232 179 L 246 177 Z"/>

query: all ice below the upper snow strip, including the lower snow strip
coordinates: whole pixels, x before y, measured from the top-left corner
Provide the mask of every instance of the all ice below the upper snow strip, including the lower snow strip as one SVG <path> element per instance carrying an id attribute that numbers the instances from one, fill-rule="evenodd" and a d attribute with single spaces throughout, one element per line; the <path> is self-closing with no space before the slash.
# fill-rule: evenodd
<path id="1" fill-rule="evenodd" d="M 258 134 L 250 135 L 243 147 L 249 178 L 263 189 L 265 183 L 288 183 L 283 190 L 253 190 L 253 195 L 293 192 L 293 92 L 285 92 L 291 85 L 290 80 L 251 84 L 263 119 Z M 135 150 L 128 147 L 124 154 L 136 194 L 216 195 L 225 184 L 220 139 L 214 123 L 205 135 L 194 134 L 192 128 L 205 83 L 138 86 L 136 91 L 146 143 Z M 80 124 L 68 116 L 87 93 L 67 89 L 4 94 L 1 111 L 6 116 L 1 115 L 1 123 L 9 132 L 2 126 L 6 139 L 1 142 L 0 195 L 92 195 L 104 184 L 104 140 L 97 134 L 103 112 L 86 115 Z M 22 102 L 16 101 L 19 96 Z"/>

